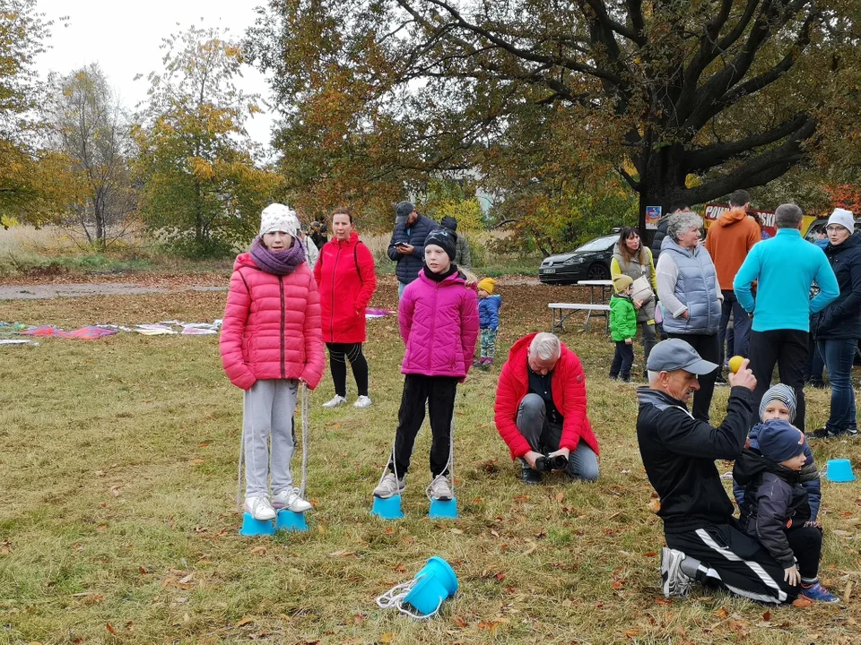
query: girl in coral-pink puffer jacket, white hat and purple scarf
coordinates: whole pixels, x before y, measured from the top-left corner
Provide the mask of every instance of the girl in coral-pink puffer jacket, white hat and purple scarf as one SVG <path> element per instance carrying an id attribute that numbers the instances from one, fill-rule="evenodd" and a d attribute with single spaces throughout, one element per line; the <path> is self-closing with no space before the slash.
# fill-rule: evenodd
<path id="1" fill-rule="evenodd" d="M 283 204 L 265 208 L 260 235 L 233 265 L 219 342 L 230 383 L 244 391 L 245 510 L 257 520 L 272 520 L 275 509 L 311 508 L 290 472 L 299 382 L 313 390 L 324 366 L 320 299 L 299 227 Z"/>

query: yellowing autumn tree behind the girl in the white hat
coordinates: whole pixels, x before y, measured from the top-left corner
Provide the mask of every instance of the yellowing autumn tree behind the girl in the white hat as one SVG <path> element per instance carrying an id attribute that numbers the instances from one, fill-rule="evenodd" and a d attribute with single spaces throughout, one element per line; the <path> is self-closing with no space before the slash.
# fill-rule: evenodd
<path id="1" fill-rule="evenodd" d="M 134 133 L 142 217 L 184 253 L 229 254 L 254 236 L 280 182 L 257 167 L 245 131 L 258 97 L 235 85 L 244 56 L 222 30 L 192 27 L 163 48 Z"/>

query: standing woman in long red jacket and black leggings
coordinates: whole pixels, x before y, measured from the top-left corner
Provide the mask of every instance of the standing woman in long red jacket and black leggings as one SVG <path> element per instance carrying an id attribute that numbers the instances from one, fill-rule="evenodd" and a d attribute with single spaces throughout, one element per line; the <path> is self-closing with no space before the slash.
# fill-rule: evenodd
<path id="1" fill-rule="evenodd" d="M 359 398 L 353 405 L 367 408 L 368 361 L 361 351 L 365 342 L 365 307 L 377 288 L 374 258 L 352 228 L 352 213 L 338 209 L 332 214 L 334 237 L 320 249 L 314 277 L 320 290 L 323 340 L 329 350 L 329 366 L 335 382 L 335 397 L 323 404 L 336 408 L 347 402 L 347 360 L 352 366 Z"/>

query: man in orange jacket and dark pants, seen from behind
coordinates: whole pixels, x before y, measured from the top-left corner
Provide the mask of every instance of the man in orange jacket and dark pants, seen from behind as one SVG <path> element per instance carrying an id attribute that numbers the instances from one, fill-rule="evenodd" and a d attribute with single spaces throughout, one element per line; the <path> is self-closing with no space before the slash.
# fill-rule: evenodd
<path id="1" fill-rule="evenodd" d="M 718 270 L 718 284 L 724 295 L 720 315 L 718 339 L 720 340 L 720 362 L 724 364 L 724 341 L 729 315 L 733 315 L 735 348 L 730 348 L 736 356 L 747 357 L 747 347 L 751 338 L 751 319 L 744 307 L 735 299 L 733 280 L 747 257 L 752 245 L 761 239 L 760 228 L 756 221 L 747 216 L 751 205 L 751 195 L 737 190 L 729 196 L 730 210 L 723 213 L 718 221 L 709 228 L 706 236 L 706 250 Z"/>

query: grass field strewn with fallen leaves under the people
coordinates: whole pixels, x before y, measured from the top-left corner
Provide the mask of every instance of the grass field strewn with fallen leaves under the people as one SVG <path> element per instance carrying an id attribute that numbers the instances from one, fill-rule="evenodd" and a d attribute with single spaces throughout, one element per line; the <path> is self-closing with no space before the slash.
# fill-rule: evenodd
<path id="1" fill-rule="evenodd" d="M 546 303 L 574 297 L 564 287 L 499 292 L 500 358 L 520 335 L 547 329 Z M 0 320 L 66 328 L 211 321 L 224 298 L 2 301 Z M 373 304 L 395 306 L 394 280 L 382 281 Z M 580 330 L 572 321 L 562 340 L 589 377 L 602 449 L 595 485 L 563 476 L 519 483 L 492 422 L 496 366 L 471 374 L 458 392 L 461 517 L 426 517 L 427 426 L 407 478 L 406 518 L 371 517 L 402 387 L 403 348 L 389 316 L 369 323 L 374 406 L 322 410 L 333 393 L 328 374 L 313 393 L 316 509 L 308 533 L 276 538 L 237 534 L 241 395 L 222 373 L 214 337 L 126 333 L 0 348 L 0 642 L 859 642 L 857 484 L 823 482 L 822 578 L 840 596 L 851 590 L 845 606 L 767 607 L 707 589 L 661 598 L 663 535 L 648 510 L 635 389 L 606 378 L 610 341 Z M 718 389 L 713 420 L 727 393 Z M 828 393 L 812 391 L 809 400 L 810 426 L 820 426 Z M 861 440 L 813 450 L 821 464 L 849 457 L 861 470 Z M 431 555 L 446 558 L 461 585 L 441 615 L 413 623 L 380 610 L 374 599 Z"/>

